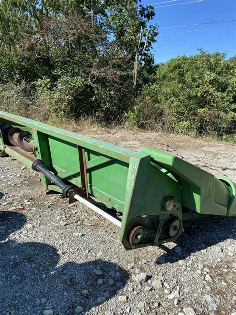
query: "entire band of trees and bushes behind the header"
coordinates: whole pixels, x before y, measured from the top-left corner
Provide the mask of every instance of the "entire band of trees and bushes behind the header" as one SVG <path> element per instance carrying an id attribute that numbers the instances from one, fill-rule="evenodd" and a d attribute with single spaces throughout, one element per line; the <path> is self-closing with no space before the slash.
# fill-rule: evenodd
<path id="1" fill-rule="evenodd" d="M 37 120 L 100 117 L 224 137 L 236 125 L 236 58 L 200 50 L 156 65 L 140 0 L 2 0 L 0 109 Z"/>

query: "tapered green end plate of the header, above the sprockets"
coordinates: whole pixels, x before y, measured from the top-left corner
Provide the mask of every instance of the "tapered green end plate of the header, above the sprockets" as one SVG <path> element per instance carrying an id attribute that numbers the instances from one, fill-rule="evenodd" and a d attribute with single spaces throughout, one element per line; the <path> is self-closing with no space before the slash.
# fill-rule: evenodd
<path id="1" fill-rule="evenodd" d="M 165 197 L 174 198 L 172 211 L 164 210 Z M 157 230 L 160 221 L 166 226 L 174 218 L 179 219 L 181 223 L 179 233 L 175 236 L 178 238 L 183 231 L 179 183 L 151 165 L 150 156 L 141 159 L 131 158 L 120 230 L 120 239 L 125 248 L 132 248 L 128 242 L 128 235 L 133 226 L 140 225 Z M 142 246 L 142 244 L 136 245 L 136 247 Z"/>

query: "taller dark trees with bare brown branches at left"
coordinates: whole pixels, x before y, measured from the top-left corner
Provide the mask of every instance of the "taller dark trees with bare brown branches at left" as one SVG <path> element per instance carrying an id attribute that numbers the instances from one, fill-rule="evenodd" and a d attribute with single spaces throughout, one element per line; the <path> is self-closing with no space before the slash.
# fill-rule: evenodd
<path id="1" fill-rule="evenodd" d="M 21 112 L 37 119 L 82 113 L 117 119 L 145 73 L 154 73 L 153 16 L 139 0 L 2 0 L 4 100 L 9 104 L 14 90 L 14 102 L 29 93 L 32 106 L 26 102 Z"/>

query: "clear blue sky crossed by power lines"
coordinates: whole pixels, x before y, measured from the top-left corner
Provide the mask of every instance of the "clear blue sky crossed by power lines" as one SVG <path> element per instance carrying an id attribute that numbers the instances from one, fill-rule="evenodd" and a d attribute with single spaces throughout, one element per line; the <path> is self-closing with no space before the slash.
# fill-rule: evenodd
<path id="1" fill-rule="evenodd" d="M 159 6 L 155 8 L 154 22 L 160 29 L 153 45 L 157 47 L 154 50 L 157 63 L 178 55 L 196 54 L 197 48 L 225 51 L 227 58 L 236 54 L 236 21 L 231 21 L 236 20 L 236 0 L 142 0 L 142 3 Z M 195 23 L 210 24 L 172 27 Z"/>

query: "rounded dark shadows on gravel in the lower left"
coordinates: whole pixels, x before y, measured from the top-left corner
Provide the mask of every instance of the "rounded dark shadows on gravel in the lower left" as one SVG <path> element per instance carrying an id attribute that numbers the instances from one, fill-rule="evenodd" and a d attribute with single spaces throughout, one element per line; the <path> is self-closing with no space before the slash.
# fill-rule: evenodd
<path id="1" fill-rule="evenodd" d="M 0 226 L 5 227 L 0 229 L 0 241 L 4 241 L 0 242 L 0 314 L 12 311 L 31 315 L 45 310 L 53 310 L 53 315 L 75 314 L 76 307 L 87 312 L 114 297 L 128 280 L 128 273 L 114 263 L 95 260 L 60 264 L 60 255 L 50 245 L 7 240 L 10 231 L 25 223 L 23 214 L 0 212 Z M 61 254 L 66 261 L 66 253 Z M 78 254 L 74 253 L 75 257 Z M 103 283 L 99 285 L 100 278 Z M 114 285 L 111 280 L 109 285 L 109 279 L 116 279 Z"/>

